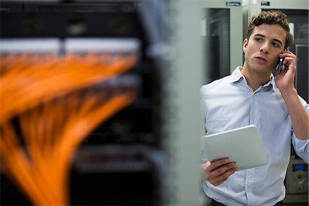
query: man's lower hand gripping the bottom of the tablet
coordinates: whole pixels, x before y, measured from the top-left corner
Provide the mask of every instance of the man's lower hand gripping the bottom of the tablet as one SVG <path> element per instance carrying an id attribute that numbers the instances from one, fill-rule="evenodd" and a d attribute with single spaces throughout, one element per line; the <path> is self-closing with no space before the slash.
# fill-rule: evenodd
<path id="1" fill-rule="evenodd" d="M 228 158 L 218 159 L 211 163 L 201 164 L 203 170 L 203 179 L 218 186 L 226 181 L 231 174 L 238 170 L 235 162 L 230 162 Z"/>

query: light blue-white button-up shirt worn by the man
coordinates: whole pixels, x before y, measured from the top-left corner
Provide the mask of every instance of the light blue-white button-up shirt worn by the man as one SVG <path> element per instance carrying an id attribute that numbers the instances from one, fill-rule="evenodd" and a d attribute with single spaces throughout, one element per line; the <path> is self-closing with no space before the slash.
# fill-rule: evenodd
<path id="1" fill-rule="evenodd" d="M 308 140 L 297 139 L 293 133 L 290 115 L 275 86 L 274 76 L 253 91 L 240 69 L 242 67 L 201 88 L 205 132 L 209 135 L 253 124 L 258 128 L 269 163 L 236 171 L 218 186 L 203 181 L 203 190 L 225 205 L 275 205 L 285 197 L 284 178 L 291 141 L 297 155 L 308 163 Z M 309 111 L 306 101 L 299 99 Z M 206 161 L 203 155 L 203 162 Z"/>

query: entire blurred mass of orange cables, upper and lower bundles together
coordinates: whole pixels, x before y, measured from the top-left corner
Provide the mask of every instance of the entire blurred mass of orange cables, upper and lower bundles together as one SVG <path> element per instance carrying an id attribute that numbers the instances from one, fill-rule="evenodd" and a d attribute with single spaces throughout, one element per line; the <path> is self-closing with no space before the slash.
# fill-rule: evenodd
<path id="1" fill-rule="evenodd" d="M 133 54 L 1 56 L 1 169 L 32 203 L 69 205 L 73 155 L 95 126 L 135 100 L 134 85 L 115 78 L 135 62 Z"/>

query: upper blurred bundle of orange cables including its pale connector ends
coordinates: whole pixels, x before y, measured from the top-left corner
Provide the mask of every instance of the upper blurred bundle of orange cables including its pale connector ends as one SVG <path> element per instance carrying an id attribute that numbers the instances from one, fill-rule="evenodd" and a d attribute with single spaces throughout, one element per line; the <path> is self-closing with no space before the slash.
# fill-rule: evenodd
<path id="1" fill-rule="evenodd" d="M 63 93 L 113 78 L 135 62 L 135 56 L 112 59 L 100 54 L 71 54 L 60 59 L 30 54 L 14 56 L 13 60 L 11 56 L 1 58 L 0 122 Z"/>

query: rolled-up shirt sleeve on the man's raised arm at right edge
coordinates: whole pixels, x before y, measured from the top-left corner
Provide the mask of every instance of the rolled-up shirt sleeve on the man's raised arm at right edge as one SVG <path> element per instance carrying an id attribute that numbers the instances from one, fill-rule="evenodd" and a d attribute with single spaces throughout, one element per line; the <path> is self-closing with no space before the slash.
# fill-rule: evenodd
<path id="1" fill-rule="evenodd" d="M 306 111 L 309 113 L 309 106 L 307 104 L 307 102 L 299 97 L 299 100 L 301 100 L 301 103 L 304 105 L 304 107 L 306 108 Z M 309 129 L 309 128 L 308 128 Z M 306 163 L 308 163 L 309 161 L 309 151 L 308 151 L 308 144 L 309 144 L 309 139 L 306 140 L 302 140 L 302 139 L 298 139 L 295 135 L 295 133 L 293 132 L 292 134 L 292 144 L 293 147 L 295 149 L 296 154 L 301 157 L 301 159 L 303 159 Z"/>

